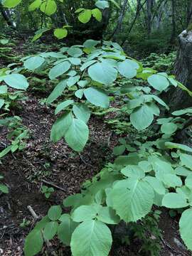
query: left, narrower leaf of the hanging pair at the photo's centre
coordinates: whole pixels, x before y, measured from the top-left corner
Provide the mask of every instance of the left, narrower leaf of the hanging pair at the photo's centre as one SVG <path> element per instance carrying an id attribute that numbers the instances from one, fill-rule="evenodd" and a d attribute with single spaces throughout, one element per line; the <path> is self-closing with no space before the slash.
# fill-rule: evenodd
<path id="1" fill-rule="evenodd" d="M 50 139 L 52 139 L 53 142 L 58 142 L 62 137 L 65 136 L 72 122 L 73 116 L 71 112 L 62 114 L 51 128 Z"/>

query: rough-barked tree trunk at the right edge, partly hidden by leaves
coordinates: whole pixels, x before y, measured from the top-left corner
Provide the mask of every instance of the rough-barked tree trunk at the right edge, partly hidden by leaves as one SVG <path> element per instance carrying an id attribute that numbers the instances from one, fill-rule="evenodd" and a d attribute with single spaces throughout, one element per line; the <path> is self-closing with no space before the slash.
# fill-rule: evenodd
<path id="1" fill-rule="evenodd" d="M 179 49 L 177 53 L 174 74 L 176 80 L 192 91 L 192 31 L 183 31 L 178 36 Z M 174 88 L 169 94 L 171 111 L 192 106 L 192 97 L 180 88 Z"/>

